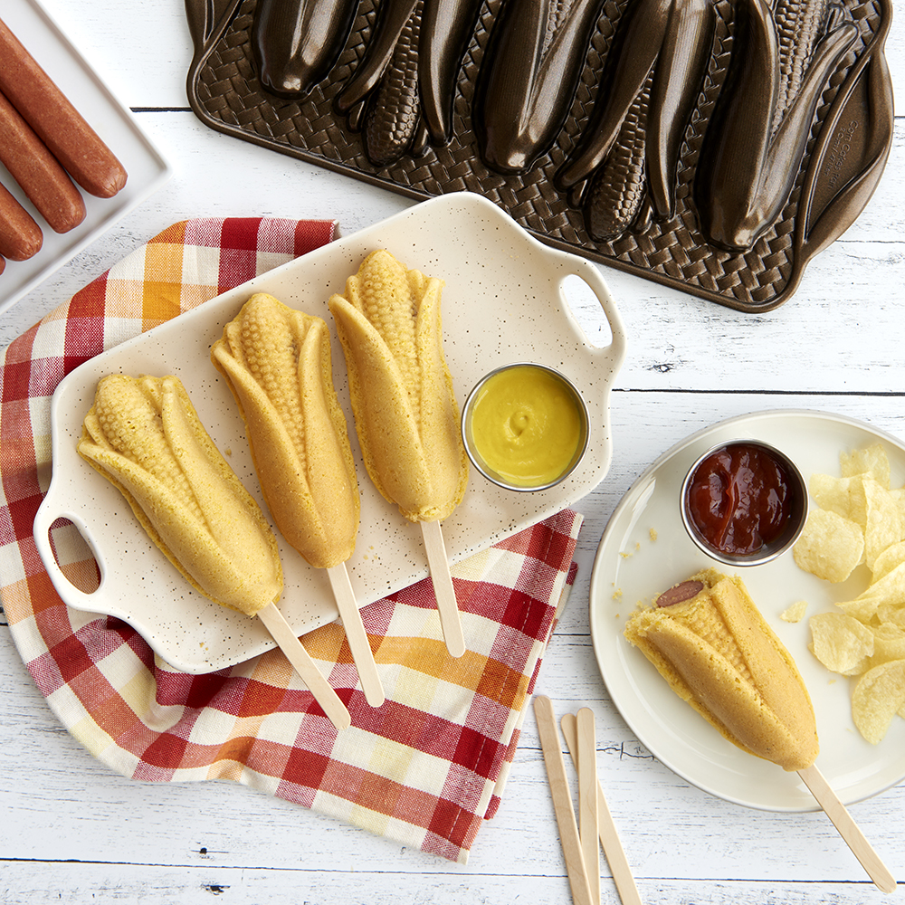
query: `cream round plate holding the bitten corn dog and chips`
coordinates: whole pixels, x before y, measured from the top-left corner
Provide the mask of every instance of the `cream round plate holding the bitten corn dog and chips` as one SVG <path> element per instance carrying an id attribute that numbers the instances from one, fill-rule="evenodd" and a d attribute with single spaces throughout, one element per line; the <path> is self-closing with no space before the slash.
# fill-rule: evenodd
<path id="1" fill-rule="evenodd" d="M 791 551 L 764 566 L 729 569 L 697 548 L 682 527 L 681 481 L 701 452 L 732 439 L 772 443 L 808 480 L 814 472 L 839 474 L 839 453 L 878 440 L 891 462 L 891 486 L 905 482 L 905 446 L 867 424 L 835 414 L 785 410 L 748 414 L 715 424 L 662 455 L 634 482 L 601 538 L 591 577 L 591 636 L 610 696 L 637 738 L 666 767 L 705 792 L 768 811 L 816 809 L 796 773 L 746 754 L 680 700 L 643 653 L 623 636 L 638 602 L 650 603 L 666 588 L 701 568 L 742 577 L 767 623 L 795 658 L 811 699 L 820 737 L 816 765 L 845 804 L 895 786 L 905 777 L 905 719 L 893 719 L 879 745 L 866 742 L 852 720 L 852 681 L 827 671 L 807 649 L 808 619 L 851 600 L 868 582 L 858 567 L 842 584 L 816 578 L 795 565 Z M 797 600 L 805 618 L 780 619 Z"/>

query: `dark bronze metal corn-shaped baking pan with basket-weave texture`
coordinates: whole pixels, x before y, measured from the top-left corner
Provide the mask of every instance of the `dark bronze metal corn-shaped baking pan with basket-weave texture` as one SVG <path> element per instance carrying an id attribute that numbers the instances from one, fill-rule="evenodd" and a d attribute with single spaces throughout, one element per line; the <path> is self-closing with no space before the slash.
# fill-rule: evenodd
<path id="1" fill-rule="evenodd" d="M 892 140 L 889 0 L 186 0 L 207 126 L 762 312 Z M 293 31 L 294 28 L 294 31 Z"/>

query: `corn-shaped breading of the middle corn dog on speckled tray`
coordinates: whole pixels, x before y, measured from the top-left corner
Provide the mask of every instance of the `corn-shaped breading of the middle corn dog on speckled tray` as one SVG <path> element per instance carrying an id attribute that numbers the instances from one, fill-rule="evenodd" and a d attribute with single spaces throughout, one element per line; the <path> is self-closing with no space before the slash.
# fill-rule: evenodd
<path id="1" fill-rule="evenodd" d="M 239 406 L 283 537 L 311 566 L 345 562 L 355 549 L 360 502 L 327 324 L 258 293 L 225 326 L 211 360 Z"/>

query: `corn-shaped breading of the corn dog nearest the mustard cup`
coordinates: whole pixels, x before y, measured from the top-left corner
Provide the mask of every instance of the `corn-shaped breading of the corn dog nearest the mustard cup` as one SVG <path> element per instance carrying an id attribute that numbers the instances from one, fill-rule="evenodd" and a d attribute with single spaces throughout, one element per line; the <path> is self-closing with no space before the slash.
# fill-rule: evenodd
<path id="1" fill-rule="evenodd" d="M 445 519 L 462 500 L 468 459 L 443 357 L 443 281 L 390 252 L 367 256 L 329 310 L 371 480 L 406 519 Z"/>

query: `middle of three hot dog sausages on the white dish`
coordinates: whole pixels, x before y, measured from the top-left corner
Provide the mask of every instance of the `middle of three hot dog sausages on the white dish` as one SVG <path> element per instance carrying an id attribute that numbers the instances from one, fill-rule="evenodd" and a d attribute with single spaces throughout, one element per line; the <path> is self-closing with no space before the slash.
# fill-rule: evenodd
<path id="1" fill-rule="evenodd" d="M 79 190 L 3 93 L 0 161 L 55 233 L 68 233 L 85 219 Z"/>

